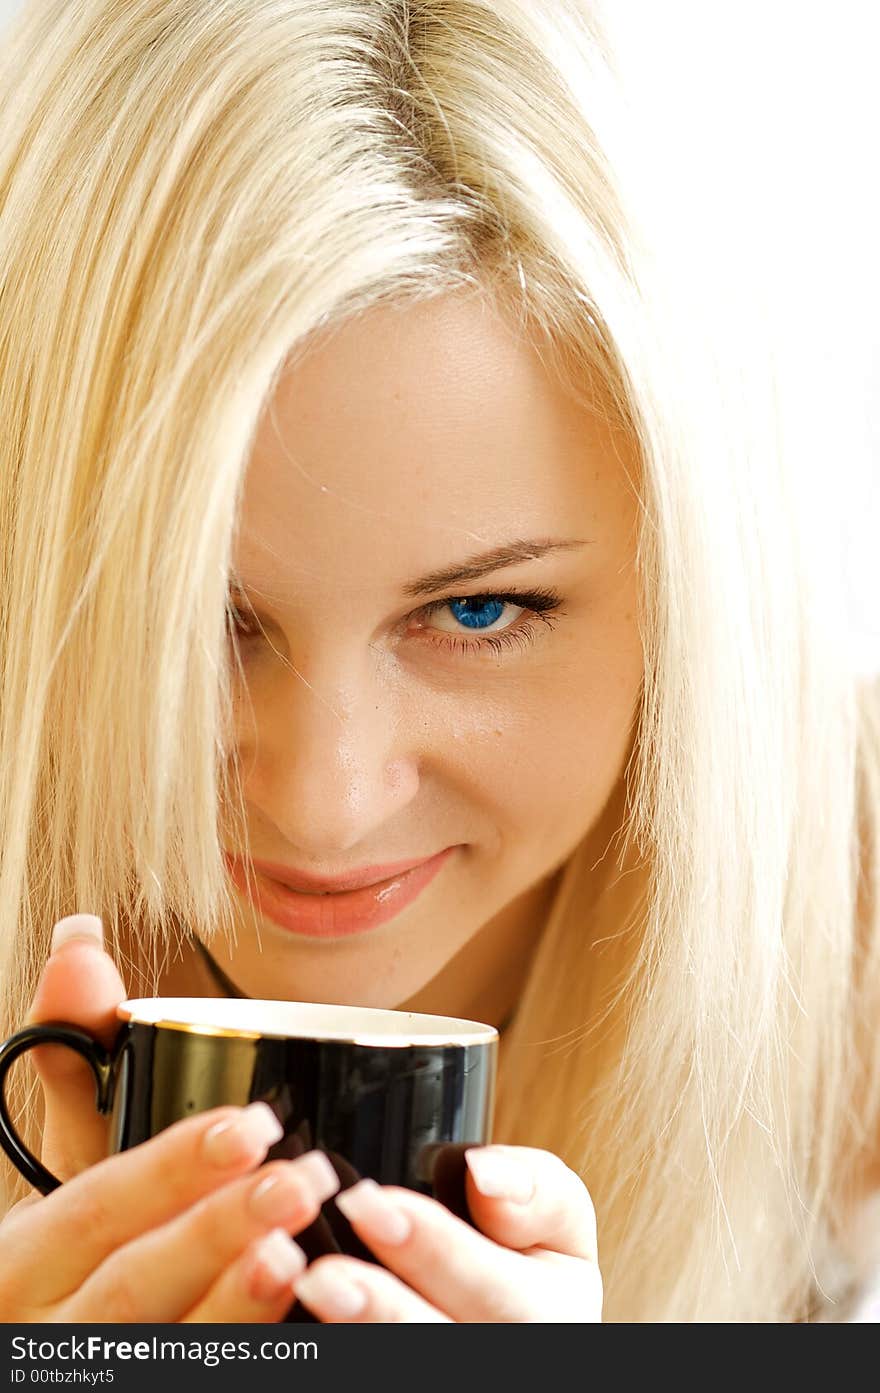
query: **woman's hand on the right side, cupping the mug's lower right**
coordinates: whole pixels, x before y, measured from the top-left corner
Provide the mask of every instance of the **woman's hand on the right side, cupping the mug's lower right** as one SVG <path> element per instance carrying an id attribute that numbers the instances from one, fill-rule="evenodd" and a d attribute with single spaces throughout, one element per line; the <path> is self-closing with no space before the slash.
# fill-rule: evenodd
<path id="1" fill-rule="evenodd" d="M 596 1216 L 574 1170 L 531 1146 L 465 1155 L 482 1231 L 427 1195 L 361 1180 L 336 1205 L 384 1266 L 317 1258 L 295 1283 L 304 1305 L 327 1322 L 600 1321 Z"/>

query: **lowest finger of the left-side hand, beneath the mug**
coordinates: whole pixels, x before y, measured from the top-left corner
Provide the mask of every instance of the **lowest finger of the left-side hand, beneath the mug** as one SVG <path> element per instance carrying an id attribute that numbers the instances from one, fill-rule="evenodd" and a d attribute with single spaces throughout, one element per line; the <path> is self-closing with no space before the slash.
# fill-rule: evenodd
<path id="1" fill-rule="evenodd" d="M 285 1229 L 272 1229 L 245 1248 L 214 1282 L 184 1323 L 265 1325 L 280 1321 L 294 1304 L 294 1283 L 305 1254 Z"/>

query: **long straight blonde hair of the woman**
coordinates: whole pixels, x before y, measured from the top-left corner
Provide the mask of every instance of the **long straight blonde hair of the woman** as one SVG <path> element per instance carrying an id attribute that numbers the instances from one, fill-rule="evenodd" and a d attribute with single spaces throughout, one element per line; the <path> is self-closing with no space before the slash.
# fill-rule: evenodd
<path id="1" fill-rule="evenodd" d="M 42 0 L 13 25 L 0 1028 L 65 914 L 100 912 L 117 960 L 139 926 L 135 995 L 181 925 L 233 932 L 224 609 L 260 414 L 347 316 L 494 295 L 638 439 L 645 648 L 604 889 L 585 836 L 496 1134 L 583 1177 L 606 1319 L 801 1319 L 880 1135 L 880 698 L 837 642 L 784 352 L 769 373 L 686 173 L 649 177 L 632 98 L 583 0 Z M 38 1095 L 22 1070 L 32 1144 Z"/>

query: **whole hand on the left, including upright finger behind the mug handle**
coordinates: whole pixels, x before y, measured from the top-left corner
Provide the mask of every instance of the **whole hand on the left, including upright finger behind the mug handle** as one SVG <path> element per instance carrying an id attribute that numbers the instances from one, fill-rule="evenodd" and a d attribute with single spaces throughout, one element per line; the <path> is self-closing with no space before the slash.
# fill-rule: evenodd
<path id="1" fill-rule="evenodd" d="M 67 1020 L 110 1045 L 125 992 L 100 921 L 75 918 L 93 922 L 49 958 L 29 1020 Z M 280 1321 L 305 1266 L 290 1233 L 338 1190 L 327 1158 L 260 1166 L 281 1135 L 265 1103 L 198 1113 L 107 1156 L 85 1063 L 57 1045 L 35 1055 L 42 1159 L 65 1183 L 28 1195 L 0 1223 L 0 1321 Z"/>

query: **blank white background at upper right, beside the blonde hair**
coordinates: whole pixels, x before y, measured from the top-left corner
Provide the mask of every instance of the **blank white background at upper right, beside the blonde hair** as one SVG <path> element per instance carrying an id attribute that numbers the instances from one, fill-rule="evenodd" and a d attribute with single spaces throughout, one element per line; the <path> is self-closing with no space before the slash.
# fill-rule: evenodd
<path id="1" fill-rule="evenodd" d="M 0 38 L 25 3 L 78 0 L 0 0 Z M 803 187 L 815 187 L 815 208 L 844 206 L 840 227 L 847 235 L 835 270 L 852 287 L 854 318 L 844 327 L 859 365 L 855 405 L 847 410 L 863 418 L 865 449 L 854 460 L 830 461 L 828 482 L 852 500 L 847 575 L 854 663 L 880 671 L 880 7 L 867 0 L 604 0 L 603 14 L 611 39 L 635 52 L 645 81 L 660 84 L 660 100 L 678 102 L 706 130 L 712 120 L 727 123 L 737 138 L 744 124 L 760 130 L 781 123 Z M 809 235 L 809 217 L 798 226 Z"/>

